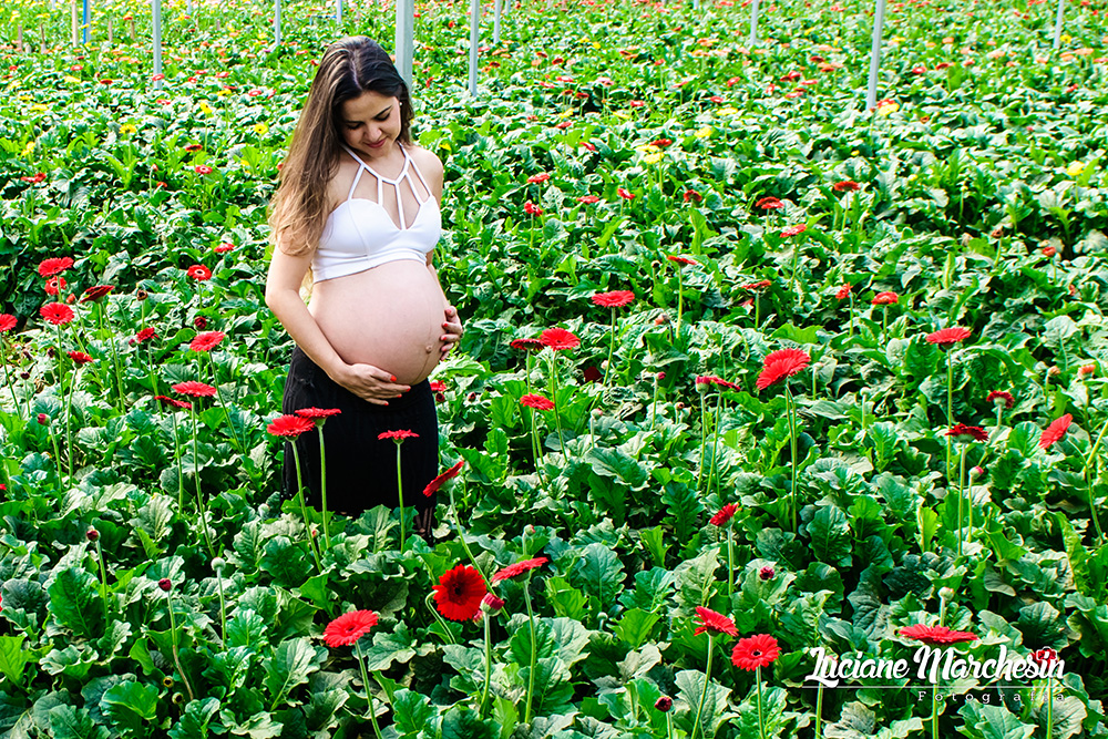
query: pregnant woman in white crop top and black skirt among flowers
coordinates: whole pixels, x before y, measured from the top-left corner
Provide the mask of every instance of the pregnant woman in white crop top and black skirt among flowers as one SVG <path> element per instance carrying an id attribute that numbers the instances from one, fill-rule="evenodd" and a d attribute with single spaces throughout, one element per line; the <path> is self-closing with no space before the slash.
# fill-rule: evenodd
<path id="1" fill-rule="evenodd" d="M 283 411 L 338 409 L 324 425 L 328 509 L 358 515 L 403 502 L 430 537 L 439 427 L 428 376 L 462 335 L 432 264 L 442 164 L 411 143 L 408 86 L 365 37 L 319 63 L 270 204 L 266 305 L 296 341 Z M 310 290 L 306 305 L 301 289 Z M 319 504 L 318 434 L 296 441 L 308 500 Z M 291 444 L 285 490 L 297 491 Z"/>

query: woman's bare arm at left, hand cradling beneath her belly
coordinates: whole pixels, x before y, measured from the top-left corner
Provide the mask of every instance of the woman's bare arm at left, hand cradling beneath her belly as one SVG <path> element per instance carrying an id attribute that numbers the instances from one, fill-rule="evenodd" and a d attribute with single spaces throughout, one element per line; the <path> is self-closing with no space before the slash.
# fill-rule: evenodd
<path id="1" fill-rule="evenodd" d="M 348 365 L 324 336 L 308 307 L 300 299 L 300 284 L 311 265 L 311 252 L 289 256 L 278 244 L 266 277 L 266 305 L 296 345 L 327 376 L 359 398 L 378 406 L 399 398 L 411 388 L 397 384 L 389 372 L 371 365 Z"/>

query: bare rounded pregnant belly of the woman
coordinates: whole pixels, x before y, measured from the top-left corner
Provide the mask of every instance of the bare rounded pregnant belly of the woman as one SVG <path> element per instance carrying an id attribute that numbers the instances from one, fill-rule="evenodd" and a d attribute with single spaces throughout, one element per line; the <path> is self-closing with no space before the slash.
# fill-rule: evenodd
<path id="1" fill-rule="evenodd" d="M 445 307 L 434 276 L 409 259 L 317 283 L 309 309 L 345 362 L 414 384 L 439 363 Z"/>

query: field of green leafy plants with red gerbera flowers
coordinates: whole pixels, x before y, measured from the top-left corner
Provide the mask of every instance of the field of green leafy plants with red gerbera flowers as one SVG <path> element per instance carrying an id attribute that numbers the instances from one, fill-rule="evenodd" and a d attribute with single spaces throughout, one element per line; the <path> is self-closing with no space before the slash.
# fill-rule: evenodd
<path id="1" fill-rule="evenodd" d="M 858 0 L 516 3 L 476 99 L 419 3 L 433 545 L 279 490 L 266 205 L 394 8 L 271 7 L 164 79 L 148 3 L 0 7 L 2 736 L 1108 736 L 1102 2 L 892 3 L 873 111 Z"/>

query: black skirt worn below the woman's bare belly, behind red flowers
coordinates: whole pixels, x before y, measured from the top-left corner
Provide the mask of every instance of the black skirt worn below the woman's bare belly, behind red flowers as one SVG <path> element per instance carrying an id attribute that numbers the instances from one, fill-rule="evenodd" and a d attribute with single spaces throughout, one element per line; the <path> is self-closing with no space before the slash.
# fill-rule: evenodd
<path id="1" fill-rule="evenodd" d="M 400 445 L 400 470 L 404 506 L 417 512 L 416 531 L 430 535 L 435 496 L 423 489 L 439 474 L 439 419 L 431 383 L 423 380 L 388 406 L 376 406 L 357 397 L 327 376 L 304 351 L 293 351 L 281 411 L 302 408 L 337 408 L 341 411 L 324 423 L 327 455 L 327 507 L 335 513 L 359 516 L 378 505 L 396 509 L 397 443 L 378 439 L 384 431 L 407 430 L 419 434 Z M 321 510 L 319 433 L 302 433 L 296 440 L 300 479 L 309 505 Z M 285 443 L 285 494 L 296 495 L 296 461 L 293 443 Z"/>

